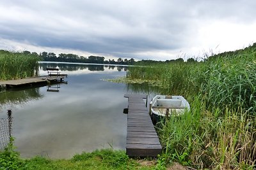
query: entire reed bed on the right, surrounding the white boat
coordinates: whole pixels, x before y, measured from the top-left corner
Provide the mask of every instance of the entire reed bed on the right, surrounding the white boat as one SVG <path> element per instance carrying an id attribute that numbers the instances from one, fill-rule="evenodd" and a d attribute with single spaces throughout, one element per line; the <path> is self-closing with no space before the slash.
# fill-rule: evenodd
<path id="1" fill-rule="evenodd" d="M 204 62 L 131 67 L 127 77 L 159 82 L 191 111 L 158 125 L 162 159 L 209 169 L 253 169 L 256 159 L 256 43 Z"/>

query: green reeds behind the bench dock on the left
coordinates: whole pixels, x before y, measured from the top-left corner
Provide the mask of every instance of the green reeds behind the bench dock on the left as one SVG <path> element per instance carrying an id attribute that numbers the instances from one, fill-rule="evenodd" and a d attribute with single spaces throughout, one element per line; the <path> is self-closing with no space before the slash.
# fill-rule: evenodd
<path id="1" fill-rule="evenodd" d="M 32 54 L 0 50 L 0 80 L 12 80 L 35 76 L 39 57 Z"/>

